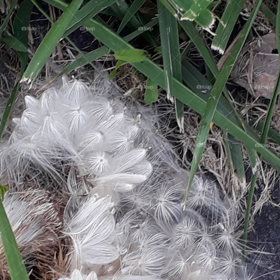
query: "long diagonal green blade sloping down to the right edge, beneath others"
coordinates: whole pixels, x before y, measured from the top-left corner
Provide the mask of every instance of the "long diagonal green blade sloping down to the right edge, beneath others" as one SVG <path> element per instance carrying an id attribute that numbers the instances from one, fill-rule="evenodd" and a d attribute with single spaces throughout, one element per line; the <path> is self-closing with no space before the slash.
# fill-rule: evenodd
<path id="1" fill-rule="evenodd" d="M 115 32 L 111 31 L 108 27 L 96 20 L 88 20 L 85 22 L 85 26 L 94 28 L 90 32 L 114 52 L 126 48 L 133 48 Z M 164 71 L 150 59 L 145 58 L 141 62 L 132 63 L 132 65 L 145 76 L 157 82 L 157 84 L 164 90 L 167 90 L 168 85 L 166 84 Z M 204 112 L 206 101 L 175 78 L 171 78 L 171 80 L 171 90 L 175 93 L 175 97 L 193 110 L 202 114 Z M 263 158 L 267 160 L 267 162 L 269 162 L 276 170 L 280 170 L 280 158 L 267 148 L 261 146 L 259 140 L 255 138 L 254 133 L 247 133 L 239 125 L 237 125 L 235 121 L 236 120 L 232 120 L 225 115 L 219 108 L 215 108 L 213 122 L 216 125 L 220 126 L 224 131 L 229 132 L 239 141 L 244 142 L 244 144 L 248 146 L 254 147 L 255 144 L 258 144 L 259 146 L 257 146 L 255 150 L 260 153 Z"/>

